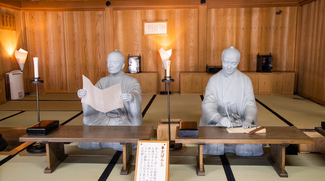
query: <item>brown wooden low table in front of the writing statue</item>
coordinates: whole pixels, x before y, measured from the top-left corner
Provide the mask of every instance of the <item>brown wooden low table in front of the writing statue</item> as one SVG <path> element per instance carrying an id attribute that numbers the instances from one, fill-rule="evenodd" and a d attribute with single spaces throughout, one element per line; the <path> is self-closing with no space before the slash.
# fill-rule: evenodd
<path id="1" fill-rule="evenodd" d="M 207 143 L 267 143 L 271 147 L 269 162 L 280 175 L 288 177 L 284 169 L 285 147 L 289 144 L 313 144 L 314 140 L 296 127 L 265 127 L 266 133 L 228 133 L 226 127 L 199 127 L 199 137 L 179 137 L 176 128 L 175 143 L 197 143 L 197 175 L 205 175 L 202 146 Z"/>

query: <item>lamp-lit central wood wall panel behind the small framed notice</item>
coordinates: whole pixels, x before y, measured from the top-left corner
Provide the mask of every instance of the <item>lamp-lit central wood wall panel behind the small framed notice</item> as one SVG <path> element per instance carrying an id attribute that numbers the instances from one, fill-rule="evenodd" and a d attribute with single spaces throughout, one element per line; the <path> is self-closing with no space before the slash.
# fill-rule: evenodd
<path id="1" fill-rule="evenodd" d="M 198 71 L 198 9 L 117 10 L 113 16 L 115 48 L 126 58 L 141 54 L 142 72 L 158 72 L 158 90 L 165 89 L 161 47 L 172 49 L 170 74 L 175 82 L 170 84 L 171 91 L 180 91 L 180 71 Z M 168 21 L 168 35 L 143 35 L 144 21 Z"/>

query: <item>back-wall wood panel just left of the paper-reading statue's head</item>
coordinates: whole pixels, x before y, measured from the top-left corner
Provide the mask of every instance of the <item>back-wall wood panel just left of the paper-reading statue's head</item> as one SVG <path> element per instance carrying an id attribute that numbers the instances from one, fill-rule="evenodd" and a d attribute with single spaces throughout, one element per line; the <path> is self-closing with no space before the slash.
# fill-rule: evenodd
<path id="1" fill-rule="evenodd" d="M 68 91 L 82 88 L 82 75 L 96 82 L 108 75 L 104 11 L 65 12 Z"/>

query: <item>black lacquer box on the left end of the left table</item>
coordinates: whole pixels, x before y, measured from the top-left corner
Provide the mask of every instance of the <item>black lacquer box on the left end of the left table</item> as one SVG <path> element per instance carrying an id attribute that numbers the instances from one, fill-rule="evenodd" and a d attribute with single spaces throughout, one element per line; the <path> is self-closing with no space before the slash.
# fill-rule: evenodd
<path id="1" fill-rule="evenodd" d="M 57 120 L 42 120 L 33 126 L 26 128 L 27 135 L 46 135 L 59 127 Z"/>

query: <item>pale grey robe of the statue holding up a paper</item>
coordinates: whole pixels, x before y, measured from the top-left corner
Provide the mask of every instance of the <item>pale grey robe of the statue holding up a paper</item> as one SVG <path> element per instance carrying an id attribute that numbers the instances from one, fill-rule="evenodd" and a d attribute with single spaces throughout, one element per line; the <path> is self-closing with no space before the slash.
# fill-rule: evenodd
<path id="1" fill-rule="evenodd" d="M 111 75 L 101 78 L 96 87 L 99 89 L 106 89 L 115 84 L 122 83 L 122 93 L 131 93 L 134 95 L 134 101 L 123 102 L 124 107 L 120 111 L 125 113 L 121 116 L 115 110 L 108 113 L 102 113 L 95 110 L 88 104 L 82 103 L 84 112 L 85 125 L 102 125 L 102 126 L 141 126 L 142 112 L 141 112 L 141 87 L 136 78 L 130 77 L 123 73 L 120 80 L 113 82 Z M 110 100 L 107 100 L 110 101 Z M 132 143 L 132 149 L 135 150 L 137 143 Z M 86 150 L 97 150 L 101 148 L 113 148 L 117 151 L 123 151 L 123 145 L 120 143 L 98 143 L 98 142 L 79 142 L 79 148 Z"/>

